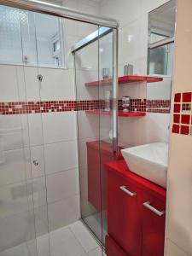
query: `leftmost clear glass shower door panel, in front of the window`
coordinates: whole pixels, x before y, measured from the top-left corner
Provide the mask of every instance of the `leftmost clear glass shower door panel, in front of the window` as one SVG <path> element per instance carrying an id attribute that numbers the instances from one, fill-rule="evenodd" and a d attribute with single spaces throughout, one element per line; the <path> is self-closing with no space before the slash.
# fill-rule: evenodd
<path id="1" fill-rule="evenodd" d="M 27 11 L 2 5 L 0 23 L 0 255 L 49 256 L 44 149 L 32 107 L 39 101 L 34 24 Z"/>

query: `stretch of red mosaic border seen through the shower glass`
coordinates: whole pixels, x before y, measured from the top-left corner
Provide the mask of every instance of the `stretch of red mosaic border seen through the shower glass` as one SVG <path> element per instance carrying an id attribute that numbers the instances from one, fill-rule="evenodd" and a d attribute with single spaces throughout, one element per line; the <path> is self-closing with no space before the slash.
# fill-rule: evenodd
<path id="1" fill-rule="evenodd" d="M 0 102 L 0 114 L 49 113 L 103 108 L 103 101 Z"/>

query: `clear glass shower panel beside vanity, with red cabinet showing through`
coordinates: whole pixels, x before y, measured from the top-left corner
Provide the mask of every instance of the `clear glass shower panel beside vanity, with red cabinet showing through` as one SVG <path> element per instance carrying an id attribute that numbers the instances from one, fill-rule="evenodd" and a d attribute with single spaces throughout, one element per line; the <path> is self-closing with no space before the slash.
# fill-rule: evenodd
<path id="1" fill-rule="evenodd" d="M 74 52 L 78 101 L 81 218 L 105 244 L 107 233 L 107 172 L 113 160 L 113 30 L 93 27 L 96 38 Z M 116 113 L 115 113 L 116 114 Z"/>

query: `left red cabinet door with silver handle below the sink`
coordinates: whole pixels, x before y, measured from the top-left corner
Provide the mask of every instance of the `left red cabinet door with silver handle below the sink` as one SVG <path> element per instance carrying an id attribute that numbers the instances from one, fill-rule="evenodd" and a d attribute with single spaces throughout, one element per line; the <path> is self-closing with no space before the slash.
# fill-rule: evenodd
<path id="1" fill-rule="evenodd" d="M 130 256 L 141 255 L 142 232 L 137 187 L 108 171 L 108 235 Z"/>

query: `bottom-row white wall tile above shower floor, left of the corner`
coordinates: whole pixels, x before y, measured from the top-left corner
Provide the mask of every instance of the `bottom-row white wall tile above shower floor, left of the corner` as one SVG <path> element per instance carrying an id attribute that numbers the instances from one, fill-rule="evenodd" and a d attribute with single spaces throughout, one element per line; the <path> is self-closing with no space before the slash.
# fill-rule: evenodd
<path id="1" fill-rule="evenodd" d="M 49 230 L 59 229 L 80 218 L 79 195 L 48 205 Z"/>

